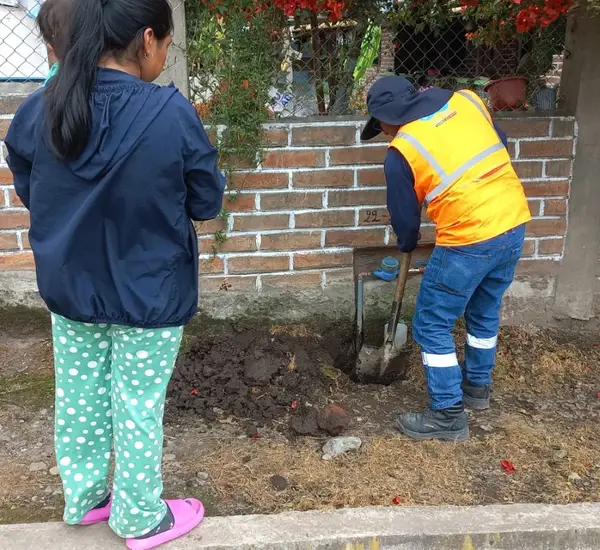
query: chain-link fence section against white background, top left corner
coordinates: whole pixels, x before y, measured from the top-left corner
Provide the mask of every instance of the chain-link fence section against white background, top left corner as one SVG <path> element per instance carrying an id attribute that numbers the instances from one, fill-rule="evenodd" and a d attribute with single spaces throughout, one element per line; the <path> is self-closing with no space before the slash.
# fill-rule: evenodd
<path id="1" fill-rule="evenodd" d="M 0 0 L 0 85 L 43 82 L 46 47 L 35 18 L 44 0 Z"/>

